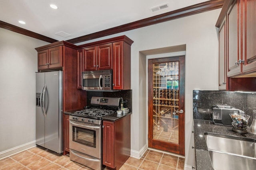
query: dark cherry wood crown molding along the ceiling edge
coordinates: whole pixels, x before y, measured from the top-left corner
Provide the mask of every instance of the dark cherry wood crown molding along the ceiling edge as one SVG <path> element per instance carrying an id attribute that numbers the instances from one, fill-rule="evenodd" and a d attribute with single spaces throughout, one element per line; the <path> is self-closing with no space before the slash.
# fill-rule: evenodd
<path id="1" fill-rule="evenodd" d="M 112 35 L 112 34 L 121 33 L 121 32 L 124 32 L 124 31 L 129 31 L 129 30 L 132 30 L 132 29 L 146 27 L 146 26 L 153 25 L 153 24 L 156 24 L 156 23 L 175 20 L 175 19 L 178 19 L 178 18 L 191 16 L 191 15 L 199 14 L 199 13 L 202 13 L 202 12 L 215 10 L 215 9 L 218 9 L 218 8 L 222 8 L 222 6 L 224 4 L 224 1 L 225 0 L 210 0 L 210 1 L 202 2 L 200 4 L 188 6 L 188 7 L 185 7 L 185 8 L 181 8 L 181 9 L 174 10 L 174 11 L 171 11 L 171 12 L 167 12 L 167 13 L 164 13 L 164 14 L 160 14 L 160 15 L 157 15 L 157 16 L 146 18 L 146 19 L 143 19 L 143 20 L 134 21 L 134 22 L 127 23 L 127 24 L 124 24 L 124 25 L 120 25 L 120 26 L 117 26 L 117 27 L 113 27 L 113 28 L 110 28 L 110 29 L 105 29 L 103 31 L 98 31 L 96 33 L 91 33 L 91 34 L 84 35 L 84 36 L 81 36 L 81 37 L 76 37 L 74 39 L 67 40 L 67 42 L 73 43 L 73 44 L 80 43 L 80 42 L 88 41 L 88 40 L 91 40 L 91 39 L 105 37 L 107 35 Z M 54 43 L 54 42 L 58 41 L 56 39 L 52 39 L 50 37 L 46 37 L 46 36 L 38 34 L 38 33 L 34 33 L 34 32 L 29 31 L 27 29 L 23 29 L 21 27 L 11 25 L 11 24 L 3 22 L 3 21 L 0 21 L 0 28 L 8 29 L 10 31 L 14 31 L 16 33 L 27 35 L 29 37 L 40 39 L 42 41 L 46 41 L 46 42 L 49 42 L 49 43 Z"/>

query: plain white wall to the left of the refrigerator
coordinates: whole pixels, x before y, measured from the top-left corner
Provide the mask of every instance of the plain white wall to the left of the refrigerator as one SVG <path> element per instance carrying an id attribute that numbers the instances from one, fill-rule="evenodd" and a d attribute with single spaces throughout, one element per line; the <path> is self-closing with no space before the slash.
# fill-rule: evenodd
<path id="1" fill-rule="evenodd" d="M 36 140 L 34 48 L 46 44 L 0 28 L 0 153 Z"/>

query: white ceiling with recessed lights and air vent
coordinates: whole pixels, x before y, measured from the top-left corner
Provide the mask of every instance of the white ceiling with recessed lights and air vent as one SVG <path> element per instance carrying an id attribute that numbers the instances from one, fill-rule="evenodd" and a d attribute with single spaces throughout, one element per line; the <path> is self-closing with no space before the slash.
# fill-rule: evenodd
<path id="1" fill-rule="evenodd" d="M 56 39 L 69 40 L 207 0 L 0 0 L 0 21 Z M 150 8 L 169 3 L 164 10 Z M 58 6 L 57 10 L 50 4 Z M 20 24 L 18 21 L 25 21 Z M 62 37 L 56 33 L 70 34 Z"/>

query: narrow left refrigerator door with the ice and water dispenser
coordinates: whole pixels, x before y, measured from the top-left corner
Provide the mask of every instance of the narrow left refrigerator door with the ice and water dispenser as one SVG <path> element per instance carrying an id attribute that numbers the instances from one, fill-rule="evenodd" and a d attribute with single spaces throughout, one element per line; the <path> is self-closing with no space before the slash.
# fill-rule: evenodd
<path id="1" fill-rule="evenodd" d="M 44 78 L 44 73 L 36 74 L 36 93 L 40 94 L 40 96 L 42 96 L 44 88 Z M 42 102 L 41 98 L 39 100 Z M 36 106 L 36 145 L 44 147 L 44 113 L 42 112 L 41 104 Z"/>

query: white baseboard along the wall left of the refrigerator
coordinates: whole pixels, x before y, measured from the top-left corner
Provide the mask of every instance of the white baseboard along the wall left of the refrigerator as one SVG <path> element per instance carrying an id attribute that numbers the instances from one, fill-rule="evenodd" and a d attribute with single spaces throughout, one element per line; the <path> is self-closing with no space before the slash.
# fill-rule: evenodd
<path id="1" fill-rule="evenodd" d="M 32 148 L 35 146 L 36 146 L 36 141 L 32 141 L 32 142 L 26 143 L 24 145 L 20 145 L 15 148 L 5 150 L 3 152 L 0 152 L 0 159 L 11 156 L 12 154 L 16 154 L 18 152 L 21 152 L 23 150 L 26 150 L 26 149 L 29 149 L 29 148 Z"/>

